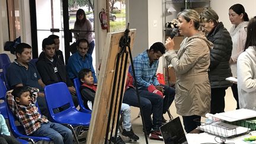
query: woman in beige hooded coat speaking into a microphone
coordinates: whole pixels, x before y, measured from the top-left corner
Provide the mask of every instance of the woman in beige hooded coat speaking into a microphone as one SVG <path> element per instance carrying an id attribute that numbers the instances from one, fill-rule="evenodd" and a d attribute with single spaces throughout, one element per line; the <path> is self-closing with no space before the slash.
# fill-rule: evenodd
<path id="1" fill-rule="evenodd" d="M 210 82 L 208 68 L 212 43 L 199 31 L 199 14 L 193 9 L 184 9 L 178 14 L 178 29 L 186 38 L 182 41 L 178 53 L 174 50 L 174 41 L 169 37 L 165 41 L 168 50 L 167 61 L 175 70 L 175 106 L 177 114 L 183 117 L 187 133 L 196 129 L 197 123 L 210 111 Z"/>

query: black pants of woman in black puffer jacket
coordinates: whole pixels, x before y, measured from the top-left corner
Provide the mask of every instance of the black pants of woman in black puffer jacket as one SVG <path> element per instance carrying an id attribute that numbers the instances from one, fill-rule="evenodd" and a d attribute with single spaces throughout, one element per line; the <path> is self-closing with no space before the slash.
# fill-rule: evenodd
<path id="1" fill-rule="evenodd" d="M 224 112 L 226 89 L 227 88 L 211 89 L 211 105 L 210 105 L 211 114 Z"/>

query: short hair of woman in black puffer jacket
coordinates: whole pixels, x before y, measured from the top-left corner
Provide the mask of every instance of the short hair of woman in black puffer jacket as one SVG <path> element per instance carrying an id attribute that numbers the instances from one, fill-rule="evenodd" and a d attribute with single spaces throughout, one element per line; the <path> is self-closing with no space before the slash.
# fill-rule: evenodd
<path id="1" fill-rule="evenodd" d="M 209 22 L 210 20 L 212 20 L 215 25 L 219 23 L 219 16 L 213 9 L 204 10 L 201 12 L 199 18 L 201 23 Z"/>

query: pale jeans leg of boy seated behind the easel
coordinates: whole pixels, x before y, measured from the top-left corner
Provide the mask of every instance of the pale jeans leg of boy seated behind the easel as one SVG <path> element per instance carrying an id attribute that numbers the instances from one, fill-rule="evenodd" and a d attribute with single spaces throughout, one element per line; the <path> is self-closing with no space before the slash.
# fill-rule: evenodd
<path id="1" fill-rule="evenodd" d="M 132 124 L 130 123 L 130 106 L 128 104 L 121 104 L 121 111 L 123 111 L 123 129 L 130 131 Z"/>

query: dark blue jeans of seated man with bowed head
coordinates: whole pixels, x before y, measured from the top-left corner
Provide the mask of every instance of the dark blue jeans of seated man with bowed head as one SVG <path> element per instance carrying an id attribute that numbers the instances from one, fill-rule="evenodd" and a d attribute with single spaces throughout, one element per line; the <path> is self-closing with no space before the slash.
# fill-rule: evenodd
<path id="1" fill-rule="evenodd" d="M 142 113 L 145 121 L 146 132 L 151 130 L 159 130 L 162 126 L 162 111 L 163 99 L 152 92 L 139 90 L 140 104 L 142 107 Z M 124 92 L 123 103 L 132 105 L 133 107 L 139 107 L 136 90 L 133 88 L 126 89 Z M 153 123 L 151 114 L 153 113 Z"/>

